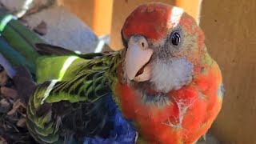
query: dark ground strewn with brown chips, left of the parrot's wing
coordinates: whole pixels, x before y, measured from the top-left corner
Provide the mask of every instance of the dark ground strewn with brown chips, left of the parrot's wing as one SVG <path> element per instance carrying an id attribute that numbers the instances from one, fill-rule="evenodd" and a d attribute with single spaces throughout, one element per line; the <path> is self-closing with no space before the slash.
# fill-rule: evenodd
<path id="1" fill-rule="evenodd" d="M 0 144 L 36 143 L 26 128 L 26 106 L 0 66 Z"/>

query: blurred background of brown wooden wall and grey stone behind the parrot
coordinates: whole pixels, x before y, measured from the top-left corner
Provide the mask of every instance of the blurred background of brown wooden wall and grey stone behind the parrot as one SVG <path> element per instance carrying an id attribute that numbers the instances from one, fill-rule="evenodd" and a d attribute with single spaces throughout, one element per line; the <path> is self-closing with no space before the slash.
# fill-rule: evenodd
<path id="1" fill-rule="evenodd" d="M 119 50 L 125 18 L 139 4 L 164 2 L 192 15 L 218 62 L 225 95 L 211 127 L 220 143 L 256 144 L 255 0 L 0 0 L 46 42 L 82 52 Z M 110 47 L 108 47 L 110 46 Z"/>

